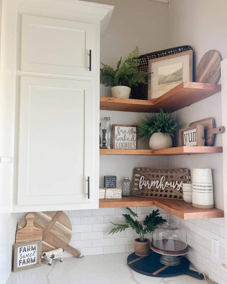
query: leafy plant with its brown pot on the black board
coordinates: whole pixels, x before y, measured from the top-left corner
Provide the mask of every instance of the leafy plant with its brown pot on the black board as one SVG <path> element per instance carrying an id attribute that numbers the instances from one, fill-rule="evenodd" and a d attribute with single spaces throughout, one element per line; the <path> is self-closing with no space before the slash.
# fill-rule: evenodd
<path id="1" fill-rule="evenodd" d="M 117 232 L 124 231 L 127 228 L 132 228 L 137 233 L 137 238 L 134 240 L 134 250 L 135 254 L 138 256 L 147 256 L 150 252 L 150 241 L 146 238 L 148 234 L 153 232 L 155 229 L 158 228 L 158 225 L 164 224 L 166 222 L 165 219 L 158 216 L 159 210 L 156 211 L 153 210 L 153 212 L 150 215 L 147 215 L 141 224 L 137 220 L 136 217 L 138 215 L 132 211 L 129 207 L 126 209 L 129 210 L 129 213 L 134 217 L 132 218 L 129 214 L 122 214 L 125 217 L 125 224 L 118 224 L 118 223 L 111 223 L 115 225 L 116 227 L 110 230 L 109 234 L 114 234 Z"/>

